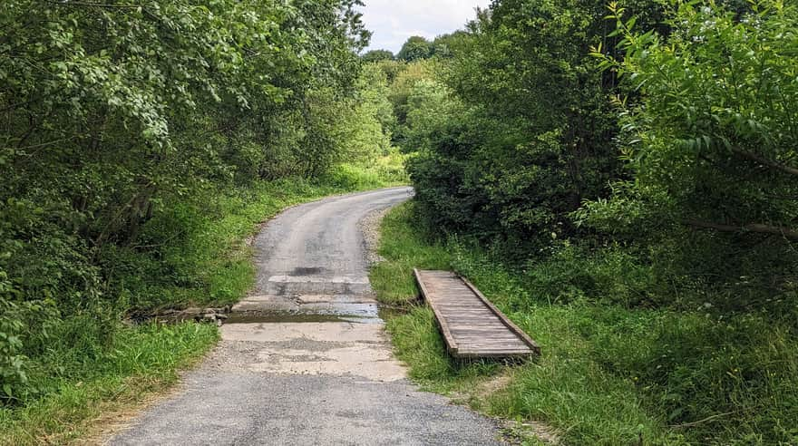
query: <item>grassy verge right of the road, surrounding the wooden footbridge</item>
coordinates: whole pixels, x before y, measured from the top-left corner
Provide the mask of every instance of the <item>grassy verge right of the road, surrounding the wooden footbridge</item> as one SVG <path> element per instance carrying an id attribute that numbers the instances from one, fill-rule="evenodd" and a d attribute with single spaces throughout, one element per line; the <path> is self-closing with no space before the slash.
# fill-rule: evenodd
<path id="1" fill-rule="evenodd" d="M 598 305 L 587 298 L 540 302 L 530 293 L 541 286 L 534 282 L 540 274 L 510 271 L 456 239 L 426 238 L 414 221 L 413 203 L 386 216 L 380 248 L 386 261 L 371 279 L 382 301 L 410 308 L 390 319 L 388 330 L 411 377 L 426 389 L 494 416 L 546 422 L 567 444 L 798 441 L 794 321 Z M 582 260 L 571 261 L 578 268 Z M 468 276 L 540 343 L 540 359 L 453 361 L 432 313 L 414 304 L 413 267 Z"/>

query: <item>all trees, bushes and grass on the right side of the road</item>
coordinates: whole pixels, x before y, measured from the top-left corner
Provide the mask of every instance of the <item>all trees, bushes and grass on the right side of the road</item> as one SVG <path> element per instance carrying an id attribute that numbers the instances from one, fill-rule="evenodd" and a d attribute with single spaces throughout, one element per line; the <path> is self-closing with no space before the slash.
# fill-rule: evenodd
<path id="1" fill-rule="evenodd" d="M 403 242 L 384 240 L 375 288 L 413 293 L 408 264 L 469 276 L 544 345 L 486 410 L 569 443 L 792 444 L 798 9 L 606 15 L 493 2 L 452 58 L 394 82 L 412 218 L 448 241 L 386 220 Z M 484 409 L 428 312 L 390 326 L 416 378 Z"/>

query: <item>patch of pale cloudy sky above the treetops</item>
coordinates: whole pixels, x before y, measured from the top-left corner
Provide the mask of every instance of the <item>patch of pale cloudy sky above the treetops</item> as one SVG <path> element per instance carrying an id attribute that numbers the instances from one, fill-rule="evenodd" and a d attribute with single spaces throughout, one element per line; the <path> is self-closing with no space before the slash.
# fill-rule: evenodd
<path id="1" fill-rule="evenodd" d="M 474 8 L 490 0 L 364 0 L 365 27 L 374 33 L 369 49 L 398 53 L 411 35 L 432 38 L 461 29 Z"/>

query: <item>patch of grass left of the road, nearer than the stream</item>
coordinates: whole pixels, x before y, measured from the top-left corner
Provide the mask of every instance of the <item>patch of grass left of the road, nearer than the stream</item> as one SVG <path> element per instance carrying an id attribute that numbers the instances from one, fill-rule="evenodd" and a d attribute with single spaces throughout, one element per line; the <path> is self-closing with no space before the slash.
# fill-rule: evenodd
<path id="1" fill-rule="evenodd" d="M 91 344 L 54 349 L 54 357 L 42 358 L 41 365 L 73 370 L 52 371 L 39 398 L 0 409 L 0 444 L 82 442 L 116 422 L 114 412 L 176 383 L 178 371 L 194 364 L 218 336 L 215 325 L 147 324 L 119 329 L 102 352 Z"/>

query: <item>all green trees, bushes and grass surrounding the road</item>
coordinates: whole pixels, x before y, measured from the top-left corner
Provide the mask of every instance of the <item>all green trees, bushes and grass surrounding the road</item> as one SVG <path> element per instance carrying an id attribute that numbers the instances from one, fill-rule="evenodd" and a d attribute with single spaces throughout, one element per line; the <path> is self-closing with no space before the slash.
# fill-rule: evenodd
<path id="1" fill-rule="evenodd" d="M 0 442 L 174 383 L 216 328 L 131 320 L 244 296 L 265 218 L 408 180 L 371 278 L 424 387 L 565 444 L 798 442 L 798 7 L 493 0 L 394 54 L 361 5 L 5 2 Z M 447 359 L 412 267 L 540 360 Z"/>

